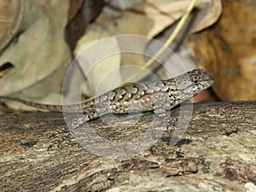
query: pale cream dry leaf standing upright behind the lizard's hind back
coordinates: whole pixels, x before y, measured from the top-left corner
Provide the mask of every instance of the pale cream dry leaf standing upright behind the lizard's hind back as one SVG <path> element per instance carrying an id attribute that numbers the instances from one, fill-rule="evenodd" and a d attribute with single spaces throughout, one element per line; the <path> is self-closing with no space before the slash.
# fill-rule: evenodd
<path id="1" fill-rule="evenodd" d="M 110 33 L 101 31 L 101 28 L 95 27 L 94 30 L 87 32 L 79 40 L 75 50 L 75 55 L 78 55 L 76 59 L 84 73 L 84 79 L 86 78 L 83 92 L 87 96 L 95 96 L 98 86 L 101 89 L 98 89 L 97 95 L 117 86 L 122 80 L 119 74 L 114 76 L 115 81 L 106 78 L 108 73 L 120 66 L 119 44 L 115 38 L 104 40 L 103 38 L 108 37 Z M 77 86 L 77 84 L 73 84 L 73 86 Z"/>

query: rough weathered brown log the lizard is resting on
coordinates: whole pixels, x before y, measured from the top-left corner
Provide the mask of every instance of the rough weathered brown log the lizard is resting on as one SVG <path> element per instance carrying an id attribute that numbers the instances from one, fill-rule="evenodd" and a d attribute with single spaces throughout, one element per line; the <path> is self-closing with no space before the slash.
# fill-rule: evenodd
<path id="1" fill-rule="evenodd" d="M 189 120 L 187 108 L 180 109 L 172 117 Z M 113 159 L 106 156 L 145 147 L 142 139 L 135 149 L 115 148 L 143 137 L 151 125 L 160 127 L 160 119 L 153 113 L 108 115 L 69 134 L 61 113 L 0 118 L 2 191 L 242 191 L 256 183 L 256 102 L 195 104 L 175 146 L 167 145 L 175 130 L 169 124 L 148 149 Z"/>

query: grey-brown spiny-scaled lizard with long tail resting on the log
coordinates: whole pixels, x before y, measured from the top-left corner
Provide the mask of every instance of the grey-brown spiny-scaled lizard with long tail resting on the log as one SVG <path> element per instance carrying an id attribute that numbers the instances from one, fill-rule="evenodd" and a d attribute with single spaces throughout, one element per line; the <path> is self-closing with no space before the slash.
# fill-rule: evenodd
<path id="1" fill-rule="evenodd" d="M 48 111 L 64 113 L 83 113 L 79 118 L 67 123 L 68 128 L 77 128 L 86 122 L 97 119 L 108 113 L 136 113 L 154 111 L 158 116 L 166 116 L 166 110 L 175 108 L 209 88 L 214 82 L 212 76 L 201 68 L 178 75 L 175 78 L 159 82 L 142 82 L 128 84 L 109 90 L 101 96 L 72 105 L 48 105 L 29 102 L 20 98 L 0 96 L 0 99 L 9 99 L 21 102 L 28 106 Z"/>

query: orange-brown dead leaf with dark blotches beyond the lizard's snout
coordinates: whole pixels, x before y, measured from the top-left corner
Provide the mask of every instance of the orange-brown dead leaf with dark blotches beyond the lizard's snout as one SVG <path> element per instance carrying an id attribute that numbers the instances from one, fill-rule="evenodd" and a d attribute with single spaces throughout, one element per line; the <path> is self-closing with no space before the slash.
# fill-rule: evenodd
<path id="1" fill-rule="evenodd" d="M 256 7 L 246 1 L 223 1 L 214 26 L 189 39 L 200 67 L 213 74 L 213 89 L 223 100 L 256 98 Z"/>

